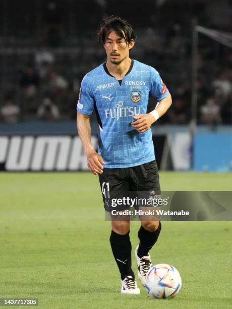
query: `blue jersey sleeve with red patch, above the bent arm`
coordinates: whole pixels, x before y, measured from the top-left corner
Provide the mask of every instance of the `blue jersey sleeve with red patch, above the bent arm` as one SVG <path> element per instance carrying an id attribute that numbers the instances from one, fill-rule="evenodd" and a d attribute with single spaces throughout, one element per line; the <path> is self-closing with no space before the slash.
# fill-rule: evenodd
<path id="1" fill-rule="evenodd" d="M 160 101 L 167 96 L 168 92 L 169 91 L 163 83 L 159 73 L 154 68 L 151 68 L 151 96 L 155 97 L 157 101 Z"/>

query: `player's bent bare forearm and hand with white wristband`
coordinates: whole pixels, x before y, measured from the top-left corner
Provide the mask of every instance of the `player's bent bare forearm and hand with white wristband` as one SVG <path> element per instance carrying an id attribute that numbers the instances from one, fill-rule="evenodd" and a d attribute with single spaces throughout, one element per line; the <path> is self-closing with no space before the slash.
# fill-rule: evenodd
<path id="1" fill-rule="evenodd" d="M 154 113 L 148 113 L 148 114 L 139 114 L 137 116 L 134 116 L 133 118 L 136 119 L 136 121 L 132 122 L 132 127 L 135 128 L 139 133 L 146 132 L 150 126 L 156 122 L 158 118 L 160 118 L 163 114 L 166 113 L 166 111 L 171 106 L 171 95 L 168 93 L 167 97 L 160 100 L 159 104 L 154 109 Z M 153 112 L 154 112 L 153 111 Z"/>

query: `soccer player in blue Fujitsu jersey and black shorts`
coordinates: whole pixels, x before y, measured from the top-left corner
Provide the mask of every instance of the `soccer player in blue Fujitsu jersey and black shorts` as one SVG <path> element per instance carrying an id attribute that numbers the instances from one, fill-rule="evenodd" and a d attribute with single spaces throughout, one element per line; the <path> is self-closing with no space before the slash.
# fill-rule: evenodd
<path id="1" fill-rule="evenodd" d="M 110 211 L 108 197 L 117 196 L 117 192 L 120 196 L 128 191 L 160 194 L 150 127 L 170 107 L 171 95 L 154 68 L 130 58 L 135 34 L 126 20 L 105 18 L 98 39 L 105 48 L 107 61 L 82 80 L 77 127 L 88 168 L 99 176 L 105 211 Z M 151 113 L 147 113 L 149 95 L 158 101 Z M 89 117 L 93 110 L 100 130 L 98 153 L 91 144 Z M 118 209 L 123 208 L 119 205 Z M 111 226 L 110 245 L 121 274 L 121 292 L 139 294 L 131 268 L 130 219 L 112 220 Z M 149 250 L 160 230 L 159 220 L 141 221 L 135 254 L 142 285 L 152 267 Z"/>

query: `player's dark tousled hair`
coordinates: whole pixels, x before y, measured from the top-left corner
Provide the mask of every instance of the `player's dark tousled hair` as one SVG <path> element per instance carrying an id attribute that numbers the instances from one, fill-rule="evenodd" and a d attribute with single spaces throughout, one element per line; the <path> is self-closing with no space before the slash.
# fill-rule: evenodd
<path id="1" fill-rule="evenodd" d="M 111 31 L 114 31 L 121 38 L 124 38 L 127 44 L 136 38 L 132 25 L 119 16 L 112 15 L 103 19 L 103 22 L 97 31 L 98 41 L 104 44 Z"/>

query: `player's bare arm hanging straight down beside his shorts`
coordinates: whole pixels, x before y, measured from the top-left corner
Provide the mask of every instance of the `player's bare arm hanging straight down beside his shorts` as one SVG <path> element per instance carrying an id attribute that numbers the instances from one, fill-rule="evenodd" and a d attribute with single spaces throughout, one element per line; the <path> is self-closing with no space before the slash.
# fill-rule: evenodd
<path id="1" fill-rule="evenodd" d="M 105 163 L 92 146 L 91 127 L 88 115 L 77 113 L 77 130 L 78 135 L 82 141 L 90 172 L 94 175 L 102 174 L 102 165 Z"/>

